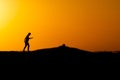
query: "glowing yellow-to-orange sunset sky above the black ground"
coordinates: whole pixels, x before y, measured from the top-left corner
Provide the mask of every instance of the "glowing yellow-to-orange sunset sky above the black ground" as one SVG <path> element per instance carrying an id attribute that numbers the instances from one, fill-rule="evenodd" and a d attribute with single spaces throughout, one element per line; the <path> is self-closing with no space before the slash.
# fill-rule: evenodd
<path id="1" fill-rule="evenodd" d="M 22 50 L 28 32 L 31 50 L 120 50 L 120 1 L 0 0 L 0 50 Z"/>

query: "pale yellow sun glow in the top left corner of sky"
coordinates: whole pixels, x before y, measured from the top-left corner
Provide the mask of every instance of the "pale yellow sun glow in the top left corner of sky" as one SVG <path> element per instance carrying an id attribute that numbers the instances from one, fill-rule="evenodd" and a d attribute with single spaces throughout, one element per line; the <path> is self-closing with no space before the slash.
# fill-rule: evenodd
<path id="1" fill-rule="evenodd" d="M 4 26 L 12 19 L 17 11 L 17 2 L 14 0 L 0 0 L 0 26 Z"/>

